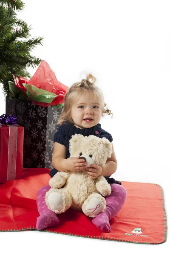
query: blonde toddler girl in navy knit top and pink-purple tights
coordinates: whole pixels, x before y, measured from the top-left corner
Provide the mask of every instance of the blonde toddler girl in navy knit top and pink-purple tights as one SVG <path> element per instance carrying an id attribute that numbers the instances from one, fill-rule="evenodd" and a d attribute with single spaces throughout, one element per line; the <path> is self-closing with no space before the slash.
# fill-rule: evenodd
<path id="1" fill-rule="evenodd" d="M 50 171 L 51 177 L 57 172 L 77 172 L 86 169 L 88 177 L 95 179 L 102 175 L 111 184 L 111 195 L 105 198 L 106 209 L 92 219 L 92 223 L 104 232 L 110 232 L 111 220 L 122 208 L 126 200 L 126 190 L 119 181 L 109 178 L 117 169 L 115 152 L 106 161 L 104 166 L 91 164 L 85 166 L 86 162 L 78 157 L 70 157 L 69 140 L 74 134 L 84 136 L 95 135 L 99 138 L 107 138 L 113 141 L 111 134 L 101 128 L 99 121 L 104 114 L 113 115 L 106 107 L 102 91 L 96 87 L 95 78 L 91 74 L 81 82 L 73 84 L 65 94 L 65 105 L 59 117 L 59 130 L 54 134 L 54 152 L 52 163 L 54 169 Z M 113 148 L 113 144 L 112 144 Z M 44 186 L 37 193 L 37 207 L 40 216 L 37 218 L 37 230 L 46 229 L 59 225 L 57 215 L 48 209 L 45 204 L 45 193 L 50 186 Z M 52 207 L 51 207 L 52 208 Z"/>

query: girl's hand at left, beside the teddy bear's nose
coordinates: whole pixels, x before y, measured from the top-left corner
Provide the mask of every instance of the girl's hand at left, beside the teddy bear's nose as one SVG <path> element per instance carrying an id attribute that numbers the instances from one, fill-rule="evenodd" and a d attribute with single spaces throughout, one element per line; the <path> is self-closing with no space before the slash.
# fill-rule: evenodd
<path id="1" fill-rule="evenodd" d="M 84 170 L 87 167 L 87 162 L 79 158 L 80 155 L 78 157 L 69 157 L 65 159 L 65 167 L 71 172 L 78 172 Z"/>

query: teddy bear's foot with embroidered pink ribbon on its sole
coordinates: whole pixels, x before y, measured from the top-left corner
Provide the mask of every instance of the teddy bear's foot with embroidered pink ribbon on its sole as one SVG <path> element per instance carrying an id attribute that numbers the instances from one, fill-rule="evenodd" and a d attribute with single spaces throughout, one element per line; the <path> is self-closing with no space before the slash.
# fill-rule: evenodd
<path id="1" fill-rule="evenodd" d="M 93 196 L 92 196 L 93 195 Z M 106 201 L 101 195 L 90 195 L 82 205 L 82 211 L 89 217 L 96 217 L 100 212 L 103 212 L 106 208 Z"/>

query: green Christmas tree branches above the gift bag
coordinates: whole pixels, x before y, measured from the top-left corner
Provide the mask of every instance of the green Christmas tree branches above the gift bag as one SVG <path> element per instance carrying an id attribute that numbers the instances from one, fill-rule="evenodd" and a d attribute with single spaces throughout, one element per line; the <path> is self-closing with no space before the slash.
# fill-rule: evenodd
<path id="1" fill-rule="evenodd" d="M 8 81 L 14 81 L 15 76 L 30 77 L 26 69 L 37 67 L 42 61 L 31 56 L 31 51 L 43 44 L 43 38 L 29 38 L 31 26 L 17 19 L 15 13 L 24 6 L 22 0 L 0 0 L 0 83 L 5 95 L 9 95 Z"/>

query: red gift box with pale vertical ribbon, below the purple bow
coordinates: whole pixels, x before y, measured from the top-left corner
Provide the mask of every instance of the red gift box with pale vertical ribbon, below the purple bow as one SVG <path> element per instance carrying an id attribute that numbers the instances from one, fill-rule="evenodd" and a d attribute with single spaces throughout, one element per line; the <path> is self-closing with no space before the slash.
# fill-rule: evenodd
<path id="1" fill-rule="evenodd" d="M 23 176 L 24 127 L 0 125 L 0 183 Z"/>

